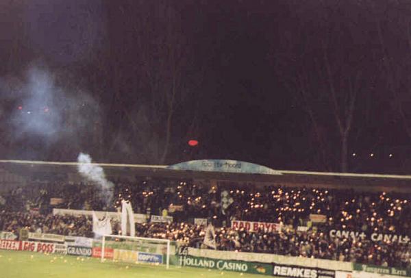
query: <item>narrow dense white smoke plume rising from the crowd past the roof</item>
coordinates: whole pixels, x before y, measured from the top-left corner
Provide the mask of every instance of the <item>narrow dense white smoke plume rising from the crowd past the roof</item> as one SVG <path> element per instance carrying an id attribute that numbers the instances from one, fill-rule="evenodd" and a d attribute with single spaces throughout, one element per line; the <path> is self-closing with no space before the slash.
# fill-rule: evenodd
<path id="1" fill-rule="evenodd" d="M 77 157 L 77 162 L 79 162 L 77 170 L 80 175 L 99 186 L 101 198 L 103 198 L 107 207 L 110 206 L 113 199 L 114 184 L 105 178 L 103 168 L 92 164 L 90 155 L 86 153 L 80 153 L 79 157 Z"/>

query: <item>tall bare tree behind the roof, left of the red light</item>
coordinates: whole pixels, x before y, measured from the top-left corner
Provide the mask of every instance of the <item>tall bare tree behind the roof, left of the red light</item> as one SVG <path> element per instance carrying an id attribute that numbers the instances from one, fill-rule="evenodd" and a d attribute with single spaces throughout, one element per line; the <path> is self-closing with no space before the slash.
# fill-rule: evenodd
<path id="1" fill-rule="evenodd" d="M 116 44 L 108 53 L 110 110 L 115 113 L 110 156 L 123 146 L 132 160 L 141 163 L 164 164 L 171 154 L 176 160 L 182 151 L 179 141 L 197 121 L 192 103 L 199 101 L 194 91 L 202 90 L 203 78 L 201 67 L 194 66 L 177 8 L 169 1 L 116 6 L 132 43 L 110 35 Z M 121 124 L 114 124 L 118 122 L 114 118 L 121 118 Z"/>

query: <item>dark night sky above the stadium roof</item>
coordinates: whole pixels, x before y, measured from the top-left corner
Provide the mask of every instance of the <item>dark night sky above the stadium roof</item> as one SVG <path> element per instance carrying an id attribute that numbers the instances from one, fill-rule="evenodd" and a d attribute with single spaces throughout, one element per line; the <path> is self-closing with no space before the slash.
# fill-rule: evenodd
<path id="1" fill-rule="evenodd" d="M 409 1 L 22 0 L 0 17 L 1 159 L 410 173 Z"/>

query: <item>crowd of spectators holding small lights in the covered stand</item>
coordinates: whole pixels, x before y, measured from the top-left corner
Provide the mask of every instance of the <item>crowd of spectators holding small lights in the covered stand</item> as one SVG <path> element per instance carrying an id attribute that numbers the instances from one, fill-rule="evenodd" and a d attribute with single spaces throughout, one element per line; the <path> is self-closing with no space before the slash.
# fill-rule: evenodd
<path id="1" fill-rule="evenodd" d="M 92 220 L 86 216 L 51 214 L 52 207 L 77 210 L 116 210 L 122 199 L 132 202 L 135 213 L 168 214 L 173 223 L 136 224 L 137 236 L 169 238 L 201 247 L 206 227 L 193 224 L 192 218 L 208 218 L 216 233 L 216 248 L 226 251 L 275 253 L 314 257 L 381 266 L 411 265 L 411 243 L 398 240 L 371 240 L 330 236 L 331 229 L 359 233 L 384 233 L 408 236 L 410 196 L 395 192 L 354 192 L 321 188 L 292 188 L 251 185 L 209 185 L 190 181 L 145 180 L 114 182 L 112 203 L 99 199 L 99 188 L 90 184 L 35 184 L 27 192 L 18 188 L 5 196 L 0 214 L 0 229 L 71 236 L 92 236 Z M 221 208 L 221 192 L 232 199 Z M 53 206 L 51 198 L 62 201 Z M 171 206 L 179 210 L 170 210 Z M 35 213 L 33 209 L 38 211 Z M 321 214 L 323 223 L 310 215 Z M 278 223 L 278 231 L 258 232 L 230 227 L 232 220 Z M 305 229 L 300 229 L 305 227 Z M 114 233 L 119 223 L 113 221 Z"/>

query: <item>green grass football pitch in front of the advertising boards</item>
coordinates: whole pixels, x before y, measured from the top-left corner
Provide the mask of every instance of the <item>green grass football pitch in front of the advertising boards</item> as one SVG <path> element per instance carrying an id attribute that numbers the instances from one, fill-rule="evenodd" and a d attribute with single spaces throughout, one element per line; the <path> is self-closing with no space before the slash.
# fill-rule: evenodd
<path id="1" fill-rule="evenodd" d="M 92 257 L 75 257 L 70 255 L 45 255 L 25 251 L 0 250 L 0 277 L 75 277 L 75 278 L 264 278 L 266 275 L 234 273 L 229 271 L 207 270 L 170 266 L 151 266 L 147 264 L 127 264 L 120 262 L 104 262 Z"/>

